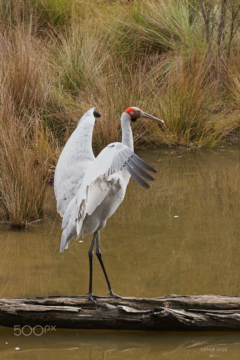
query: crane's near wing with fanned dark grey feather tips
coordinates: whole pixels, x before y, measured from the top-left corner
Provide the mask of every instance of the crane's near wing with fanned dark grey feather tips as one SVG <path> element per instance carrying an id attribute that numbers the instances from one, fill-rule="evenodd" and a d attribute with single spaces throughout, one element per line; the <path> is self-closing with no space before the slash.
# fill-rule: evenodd
<path id="1" fill-rule="evenodd" d="M 153 181 L 154 179 L 144 168 L 156 173 L 156 170 L 149 166 L 126 145 L 112 143 L 103 149 L 84 174 L 78 193 L 66 209 L 62 223 L 61 251 L 64 251 L 64 249 L 68 247 L 68 243 L 75 235 L 84 236 L 96 230 L 83 229 L 83 221 L 86 214 L 91 216 L 96 208 L 110 195 L 111 210 L 108 212 L 107 218 L 114 213 L 121 201 L 123 201 L 130 175 L 133 176 L 134 180 L 140 185 L 149 188 L 149 185 L 141 176 L 149 181 Z M 124 176 L 120 174 L 121 170 L 124 170 L 125 173 L 127 171 L 130 175 L 124 178 Z M 123 190 L 121 193 L 119 192 L 120 189 Z"/>

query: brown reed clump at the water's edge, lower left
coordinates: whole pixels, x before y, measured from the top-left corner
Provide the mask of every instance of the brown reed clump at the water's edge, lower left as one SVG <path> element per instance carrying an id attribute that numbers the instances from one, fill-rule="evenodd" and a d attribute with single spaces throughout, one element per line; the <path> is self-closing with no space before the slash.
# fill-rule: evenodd
<path id="1" fill-rule="evenodd" d="M 27 226 L 46 210 L 47 160 L 19 141 L 19 131 L 1 127 L 0 199 L 11 226 Z"/>

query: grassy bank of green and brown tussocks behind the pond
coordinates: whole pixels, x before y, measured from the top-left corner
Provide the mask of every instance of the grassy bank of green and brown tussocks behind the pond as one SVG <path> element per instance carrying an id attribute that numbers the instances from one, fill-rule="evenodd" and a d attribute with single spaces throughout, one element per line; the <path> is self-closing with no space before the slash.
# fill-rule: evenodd
<path id="1" fill-rule="evenodd" d="M 0 196 L 12 226 L 46 210 L 61 147 L 93 106 L 102 113 L 95 153 L 121 140 L 130 105 L 165 120 L 134 123 L 135 146 L 213 146 L 237 136 L 239 14 L 229 48 L 231 9 L 221 40 L 215 5 L 207 40 L 198 1 L 1 1 Z"/>

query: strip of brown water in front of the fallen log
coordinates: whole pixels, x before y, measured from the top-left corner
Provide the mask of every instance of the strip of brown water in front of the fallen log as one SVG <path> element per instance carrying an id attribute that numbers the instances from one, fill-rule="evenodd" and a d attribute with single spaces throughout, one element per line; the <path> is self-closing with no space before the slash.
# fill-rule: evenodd
<path id="1" fill-rule="evenodd" d="M 0 328 L 1 360 L 9 359 L 232 359 L 239 354 L 238 333 L 157 333 L 60 330 L 41 337 L 13 337 Z M 26 330 L 27 332 L 27 330 Z M 20 350 L 15 350 L 18 347 Z M 205 349 L 205 351 L 204 351 Z M 221 351 L 219 351 L 221 349 Z M 211 351 L 212 350 L 212 351 Z M 237 355 L 238 356 L 238 355 Z"/>

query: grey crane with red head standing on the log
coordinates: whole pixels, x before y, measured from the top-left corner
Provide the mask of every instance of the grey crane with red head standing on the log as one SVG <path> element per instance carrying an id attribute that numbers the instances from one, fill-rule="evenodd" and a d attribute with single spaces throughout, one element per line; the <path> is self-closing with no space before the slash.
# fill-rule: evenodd
<path id="1" fill-rule="evenodd" d="M 92 132 L 95 118 L 100 117 L 94 108 L 80 119 L 77 128 L 68 139 L 56 165 L 54 190 L 57 211 L 63 216 L 60 251 L 77 235 L 93 234 L 89 255 L 88 298 L 96 304 L 92 293 L 92 259 L 96 242 L 96 256 L 106 278 L 110 296 L 120 298 L 111 288 L 99 248 L 99 231 L 124 199 L 130 176 L 144 188 L 145 179 L 153 181 L 144 169 L 156 173 L 151 166 L 133 152 L 131 121 L 145 118 L 164 121 L 141 111 L 137 107 L 126 109 L 121 115 L 122 142 L 107 145 L 95 158 L 92 151 Z M 141 176 L 142 177 L 141 177 Z"/>

